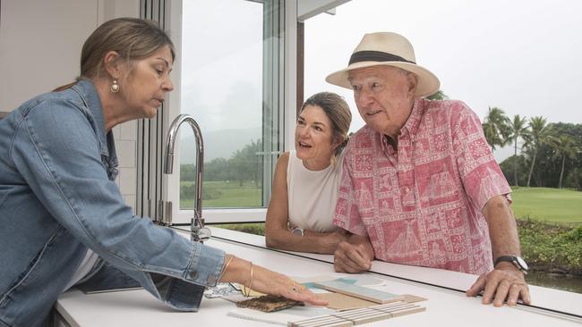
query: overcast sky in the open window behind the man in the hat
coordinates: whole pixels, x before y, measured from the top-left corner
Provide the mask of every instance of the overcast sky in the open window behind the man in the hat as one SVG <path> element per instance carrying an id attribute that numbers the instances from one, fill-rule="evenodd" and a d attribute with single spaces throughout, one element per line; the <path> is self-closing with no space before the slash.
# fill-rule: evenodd
<path id="1" fill-rule="evenodd" d="M 582 1 L 352 0 L 336 12 L 305 21 L 305 96 L 335 91 L 355 110 L 351 91 L 324 79 L 347 66 L 364 33 L 392 31 L 482 119 L 498 106 L 510 117 L 582 123 Z"/>

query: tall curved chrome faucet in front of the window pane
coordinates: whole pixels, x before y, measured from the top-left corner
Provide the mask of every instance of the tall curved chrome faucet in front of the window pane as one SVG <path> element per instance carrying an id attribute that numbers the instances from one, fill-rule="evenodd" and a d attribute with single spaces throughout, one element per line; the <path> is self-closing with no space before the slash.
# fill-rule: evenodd
<path id="1" fill-rule="evenodd" d="M 202 219 L 202 164 L 204 163 L 204 142 L 202 141 L 202 133 L 198 123 L 194 121 L 189 114 L 181 114 L 177 116 L 170 125 L 170 130 L 166 138 L 166 155 L 164 156 L 164 173 L 171 174 L 174 165 L 174 143 L 175 137 L 183 122 L 187 122 L 194 132 L 196 139 L 196 182 L 194 192 L 194 216 L 190 222 L 190 231 L 192 240 L 202 242 L 210 239 L 210 230 L 204 227 L 204 220 Z M 167 225 L 172 225 L 172 219 L 169 218 Z"/>

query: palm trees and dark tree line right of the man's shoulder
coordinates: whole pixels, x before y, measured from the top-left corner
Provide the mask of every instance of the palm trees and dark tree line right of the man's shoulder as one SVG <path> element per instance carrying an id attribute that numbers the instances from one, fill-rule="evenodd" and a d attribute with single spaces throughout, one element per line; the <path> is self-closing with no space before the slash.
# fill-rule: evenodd
<path id="1" fill-rule="evenodd" d="M 514 186 L 582 189 L 582 124 L 509 118 L 501 108 L 489 107 L 483 130 L 492 150 L 513 146 L 513 156 L 500 166 Z"/>

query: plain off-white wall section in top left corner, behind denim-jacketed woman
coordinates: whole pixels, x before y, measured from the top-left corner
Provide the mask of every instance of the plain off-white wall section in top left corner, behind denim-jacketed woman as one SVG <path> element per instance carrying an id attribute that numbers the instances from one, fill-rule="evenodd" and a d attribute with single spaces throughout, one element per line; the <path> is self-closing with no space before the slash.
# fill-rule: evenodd
<path id="1" fill-rule="evenodd" d="M 97 0 L 4 0 L 0 111 L 74 80 L 81 45 L 97 26 Z"/>

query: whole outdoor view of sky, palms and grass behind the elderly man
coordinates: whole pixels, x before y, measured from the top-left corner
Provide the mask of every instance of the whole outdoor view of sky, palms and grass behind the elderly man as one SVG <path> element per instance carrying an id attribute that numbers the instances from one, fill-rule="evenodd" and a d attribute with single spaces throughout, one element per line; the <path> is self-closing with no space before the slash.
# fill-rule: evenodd
<path id="1" fill-rule="evenodd" d="M 407 37 L 442 93 L 495 127 L 485 138 L 513 189 L 527 281 L 582 293 L 582 3 L 352 0 L 335 13 L 305 21 L 305 97 L 345 96 L 359 130 L 353 92 L 325 77 L 347 67 L 364 33 Z"/>

